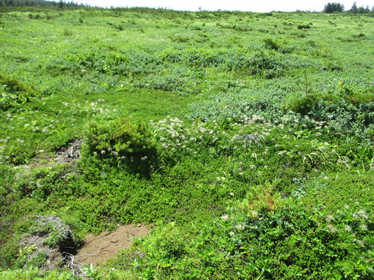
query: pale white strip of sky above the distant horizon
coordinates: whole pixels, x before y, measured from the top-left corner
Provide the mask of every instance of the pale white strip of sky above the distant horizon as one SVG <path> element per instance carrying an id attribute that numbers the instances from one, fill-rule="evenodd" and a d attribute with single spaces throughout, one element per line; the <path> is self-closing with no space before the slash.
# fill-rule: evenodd
<path id="1" fill-rule="evenodd" d="M 65 0 L 67 1 L 67 0 Z M 70 0 L 69 0 L 70 1 Z M 243 10 L 251 12 L 271 12 L 284 11 L 292 12 L 295 10 L 321 11 L 328 3 L 327 0 L 74 0 L 74 3 L 90 4 L 99 7 L 149 7 L 149 8 L 171 8 L 173 10 Z M 338 2 L 349 10 L 354 1 L 330 1 Z M 373 0 L 356 1 L 358 7 L 367 5 L 371 9 L 374 5 Z"/>

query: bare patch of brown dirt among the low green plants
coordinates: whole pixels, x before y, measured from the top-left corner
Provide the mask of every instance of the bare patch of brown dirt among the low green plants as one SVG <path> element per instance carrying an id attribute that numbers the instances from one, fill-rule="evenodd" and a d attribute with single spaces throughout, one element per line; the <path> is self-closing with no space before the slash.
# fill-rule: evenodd
<path id="1" fill-rule="evenodd" d="M 102 232 L 100 235 L 86 235 L 84 246 L 75 255 L 77 262 L 81 264 L 105 262 L 108 258 L 114 258 L 116 253 L 129 248 L 132 238 L 147 235 L 150 229 L 145 225 L 121 225 L 114 232 Z"/>

